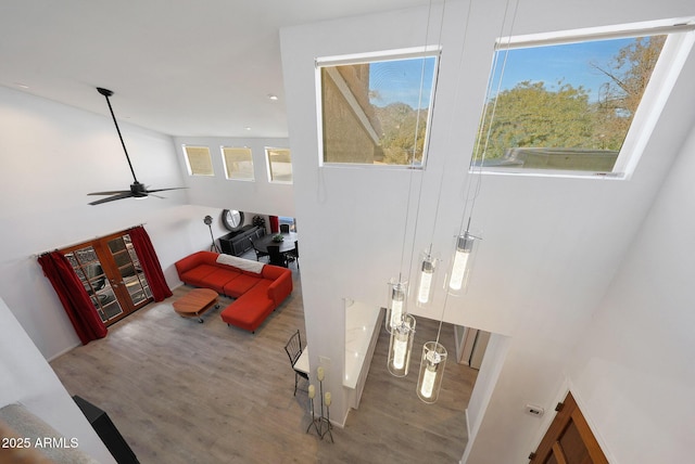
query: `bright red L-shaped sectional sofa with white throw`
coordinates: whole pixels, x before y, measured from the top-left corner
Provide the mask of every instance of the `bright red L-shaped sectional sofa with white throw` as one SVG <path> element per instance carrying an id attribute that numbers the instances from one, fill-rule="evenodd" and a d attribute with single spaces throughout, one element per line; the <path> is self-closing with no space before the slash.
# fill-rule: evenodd
<path id="1" fill-rule="evenodd" d="M 252 333 L 292 293 L 292 271 L 279 266 L 213 252 L 193 253 L 175 266 L 181 282 L 236 298 L 219 315 Z"/>

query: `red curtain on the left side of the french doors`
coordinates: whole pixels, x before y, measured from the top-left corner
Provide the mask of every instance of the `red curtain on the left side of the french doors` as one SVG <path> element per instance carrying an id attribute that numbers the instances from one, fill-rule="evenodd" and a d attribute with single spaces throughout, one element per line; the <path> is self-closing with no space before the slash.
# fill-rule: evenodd
<path id="1" fill-rule="evenodd" d="M 58 294 L 83 345 L 106 336 L 106 326 L 94 309 L 67 258 L 59 252 L 39 256 L 39 265 Z"/>

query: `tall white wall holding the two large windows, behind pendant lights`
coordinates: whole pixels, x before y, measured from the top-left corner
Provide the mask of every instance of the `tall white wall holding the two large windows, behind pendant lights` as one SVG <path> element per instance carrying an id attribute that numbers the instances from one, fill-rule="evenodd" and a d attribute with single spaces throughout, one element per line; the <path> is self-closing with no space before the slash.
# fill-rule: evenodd
<path id="1" fill-rule="evenodd" d="M 440 7 L 433 10 L 431 31 L 439 31 Z M 468 17 L 467 2 L 446 3 L 430 159 L 427 170 L 413 177 L 416 192 L 420 180 L 424 182 L 416 253 L 430 239 L 440 256 L 451 253 L 471 181 L 466 165 L 505 7 L 502 0 L 473 2 Z M 513 33 L 692 14 L 692 2 L 679 0 L 658 4 L 527 0 L 519 4 Z M 316 366 L 319 356 L 329 357 L 337 374 L 342 372 L 337 362 L 343 330 L 339 299 L 351 296 L 384 304 L 386 282 L 402 271 L 404 198 L 412 178 L 405 171 L 318 168 L 314 59 L 422 44 L 426 17 L 427 9 L 415 9 L 281 31 L 291 149 L 303 155 L 295 158 L 294 178 L 304 243 L 302 275 L 311 361 Z M 506 34 L 510 22 L 507 16 Z M 430 33 L 428 42 L 435 41 L 437 34 Z M 413 312 L 433 319 L 445 308 L 450 322 L 508 336 L 500 351 L 506 357 L 498 357 L 503 363 L 498 377 L 481 372 L 483 382 L 473 391 L 477 410 L 467 462 L 526 462 L 538 444 L 544 424 L 526 415 L 523 405 L 530 402 L 552 411 L 558 390 L 568 382 L 565 365 L 573 347 L 582 339 L 692 126 L 694 98 L 686 82 L 692 81 L 693 66 L 691 56 L 631 180 L 482 178 L 473 228 L 483 231 L 484 240 L 468 294 L 440 296 L 430 311 L 410 306 Z M 440 190 L 441 205 L 434 218 Z M 410 218 L 414 205 L 412 202 Z M 331 224 L 328 231 L 326 223 Z M 409 243 L 405 250 L 409 255 Z M 406 259 L 406 274 L 408 265 Z M 338 390 L 337 382 L 331 388 Z M 346 405 L 334 394 L 337 397 L 336 409 L 344 412 Z M 585 412 L 590 418 L 594 413 L 591 408 Z M 632 462 L 614 455 L 616 462 Z"/>

